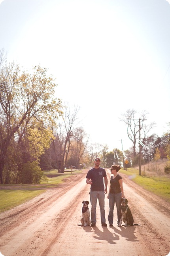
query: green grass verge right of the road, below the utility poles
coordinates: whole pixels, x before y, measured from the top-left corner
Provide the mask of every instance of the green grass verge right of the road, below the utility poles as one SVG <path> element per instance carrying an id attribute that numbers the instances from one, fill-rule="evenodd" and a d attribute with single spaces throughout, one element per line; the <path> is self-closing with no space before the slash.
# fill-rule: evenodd
<path id="1" fill-rule="evenodd" d="M 150 191 L 170 202 L 170 178 L 140 176 L 139 170 L 134 168 L 128 168 L 127 171 L 121 169 L 120 175 L 121 173 L 128 175 L 129 179 L 147 191 Z"/>

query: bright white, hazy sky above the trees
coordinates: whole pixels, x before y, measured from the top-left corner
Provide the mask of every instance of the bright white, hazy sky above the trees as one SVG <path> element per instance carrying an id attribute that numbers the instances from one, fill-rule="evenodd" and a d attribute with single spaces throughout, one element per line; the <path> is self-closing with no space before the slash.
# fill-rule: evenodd
<path id="1" fill-rule="evenodd" d="M 0 49 L 56 77 L 56 95 L 80 107 L 91 142 L 132 146 L 120 121 L 146 110 L 162 136 L 170 122 L 170 4 L 166 0 L 0 1 Z"/>

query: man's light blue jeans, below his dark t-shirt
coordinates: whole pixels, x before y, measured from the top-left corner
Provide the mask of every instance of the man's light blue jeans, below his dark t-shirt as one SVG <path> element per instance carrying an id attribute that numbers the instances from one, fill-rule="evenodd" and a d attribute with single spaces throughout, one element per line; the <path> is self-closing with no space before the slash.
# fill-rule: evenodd
<path id="1" fill-rule="evenodd" d="M 104 210 L 104 191 L 91 191 L 90 192 L 90 202 L 91 202 L 91 222 L 96 223 L 96 205 L 97 199 L 100 206 L 100 217 L 101 222 L 106 222 L 105 210 Z"/>

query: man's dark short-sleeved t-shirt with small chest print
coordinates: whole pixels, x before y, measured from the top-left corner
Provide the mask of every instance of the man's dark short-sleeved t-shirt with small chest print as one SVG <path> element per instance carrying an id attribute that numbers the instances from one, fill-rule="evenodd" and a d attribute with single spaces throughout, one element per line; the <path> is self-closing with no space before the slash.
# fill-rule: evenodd
<path id="1" fill-rule="evenodd" d="M 92 168 L 88 171 L 86 178 L 92 179 L 91 191 L 104 191 L 103 177 L 106 177 L 104 168 Z"/>

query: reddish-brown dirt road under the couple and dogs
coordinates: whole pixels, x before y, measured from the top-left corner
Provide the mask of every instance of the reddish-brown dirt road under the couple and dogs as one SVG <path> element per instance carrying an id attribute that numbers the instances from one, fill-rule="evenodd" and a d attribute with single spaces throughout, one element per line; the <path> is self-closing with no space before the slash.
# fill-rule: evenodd
<path id="1" fill-rule="evenodd" d="M 108 181 L 110 179 L 110 171 Z M 87 170 L 12 210 L 0 214 L 0 255 L 166 256 L 170 252 L 170 204 L 123 177 L 125 196 L 139 226 L 81 227 L 81 202 L 89 200 Z M 89 206 L 91 208 L 91 206 Z M 106 220 L 108 198 L 105 198 Z M 106 221 L 108 223 L 108 220 Z"/>

